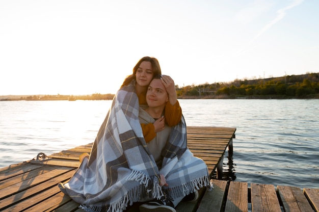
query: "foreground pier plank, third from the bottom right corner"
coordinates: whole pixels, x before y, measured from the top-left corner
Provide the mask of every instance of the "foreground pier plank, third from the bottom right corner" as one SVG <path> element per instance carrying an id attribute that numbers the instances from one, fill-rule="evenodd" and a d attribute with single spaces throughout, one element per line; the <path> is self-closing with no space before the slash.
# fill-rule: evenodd
<path id="1" fill-rule="evenodd" d="M 252 212 L 281 212 L 273 185 L 251 183 Z"/>

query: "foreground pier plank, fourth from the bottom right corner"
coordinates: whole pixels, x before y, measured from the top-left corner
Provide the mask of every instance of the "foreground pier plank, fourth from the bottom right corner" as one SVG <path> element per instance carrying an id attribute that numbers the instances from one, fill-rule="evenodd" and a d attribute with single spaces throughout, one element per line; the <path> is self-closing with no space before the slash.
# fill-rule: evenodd
<path id="1" fill-rule="evenodd" d="M 225 211 L 248 212 L 247 182 L 230 182 Z"/>

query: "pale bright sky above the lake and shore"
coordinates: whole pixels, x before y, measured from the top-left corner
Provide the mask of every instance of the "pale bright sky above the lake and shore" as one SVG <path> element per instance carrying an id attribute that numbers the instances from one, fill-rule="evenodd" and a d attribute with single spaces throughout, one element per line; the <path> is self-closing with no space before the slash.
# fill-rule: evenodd
<path id="1" fill-rule="evenodd" d="M 115 94 L 144 56 L 175 85 L 319 72 L 317 0 L 1 0 L 0 95 Z"/>

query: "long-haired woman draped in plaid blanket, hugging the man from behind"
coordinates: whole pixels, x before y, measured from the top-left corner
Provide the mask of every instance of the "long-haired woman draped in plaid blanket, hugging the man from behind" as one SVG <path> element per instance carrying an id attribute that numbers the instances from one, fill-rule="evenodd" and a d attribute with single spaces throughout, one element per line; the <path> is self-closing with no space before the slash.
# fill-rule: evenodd
<path id="1" fill-rule="evenodd" d="M 144 57 L 136 64 L 112 101 L 90 157 L 82 158 L 68 183 L 59 183 L 61 191 L 85 210 L 122 211 L 143 198 L 140 194 L 146 191 L 154 198 L 162 196 L 158 169 L 153 169 L 156 164 L 149 162 L 139 122 L 139 105 L 146 103 L 146 91 L 155 74 L 161 74 L 155 58 Z M 162 80 L 172 100 L 168 103 L 180 109 L 174 82 L 168 76 Z M 167 116 L 167 111 L 165 121 L 170 125 L 178 123 L 180 119 Z"/>

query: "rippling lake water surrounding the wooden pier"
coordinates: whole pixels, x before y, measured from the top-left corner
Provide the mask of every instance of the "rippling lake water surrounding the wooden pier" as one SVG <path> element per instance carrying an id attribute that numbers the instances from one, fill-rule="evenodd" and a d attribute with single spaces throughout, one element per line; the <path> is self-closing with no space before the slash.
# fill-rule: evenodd
<path id="1" fill-rule="evenodd" d="M 188 126 L 236 127 L 225 179 L 319 188 L 319 99 L 179 99 Z M 94 141 L 102 101 L 0 101 L 0 168 Z"/>

